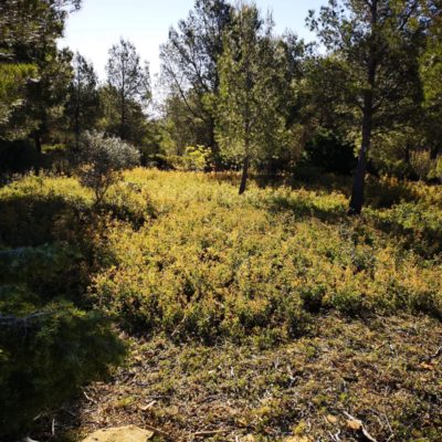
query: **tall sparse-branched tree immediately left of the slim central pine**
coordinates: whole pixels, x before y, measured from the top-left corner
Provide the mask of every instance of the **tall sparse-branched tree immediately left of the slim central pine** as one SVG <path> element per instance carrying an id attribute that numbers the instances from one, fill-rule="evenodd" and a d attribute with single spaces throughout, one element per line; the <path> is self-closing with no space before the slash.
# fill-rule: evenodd
<path id="1" fill-rule="evenodd" d="M 181 155 L 186 146 L 212 149 L 219 164 L 214 120 L 219 97 L 219 59 L 223 34 L 229 31 L 233 7 L 225 0 L 196 0 L 177 29 L 160 46 L 161 81 L 169 90 L 165 103 L 166 130 Z"/>

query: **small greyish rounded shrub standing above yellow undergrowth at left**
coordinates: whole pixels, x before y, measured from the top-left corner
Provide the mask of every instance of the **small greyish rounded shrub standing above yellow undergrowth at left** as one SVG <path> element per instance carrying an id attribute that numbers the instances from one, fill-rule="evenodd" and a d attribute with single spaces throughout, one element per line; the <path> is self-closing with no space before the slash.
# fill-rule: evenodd
<path id="1" fill-rule="evenodd" d="M 78 177 L 82 185 L 93 189 L 95 204 L 99 204 L 109 187 L 122 177 L 122 171 L 139 164 L 139 151 L 117 137 L 86 131 L 80 144 Z"/>

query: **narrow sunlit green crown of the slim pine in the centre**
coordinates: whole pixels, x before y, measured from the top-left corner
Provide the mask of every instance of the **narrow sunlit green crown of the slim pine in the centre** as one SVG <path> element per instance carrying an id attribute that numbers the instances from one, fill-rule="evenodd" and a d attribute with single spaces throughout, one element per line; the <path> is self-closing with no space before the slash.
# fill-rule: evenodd
<path id="1" fill-rule="evenodd" d="M 236 164 L 256 162 L 288 149 L 283 107 L 290 85 L 285 51 L 254 6 L 234 11 L 219 60 L 217 136 L 221 154 Z"/>

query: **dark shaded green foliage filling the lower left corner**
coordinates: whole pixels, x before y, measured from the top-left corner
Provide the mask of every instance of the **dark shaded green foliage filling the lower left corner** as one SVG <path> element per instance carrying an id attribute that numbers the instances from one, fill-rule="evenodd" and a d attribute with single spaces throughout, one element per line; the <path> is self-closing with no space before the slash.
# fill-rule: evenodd
<path id="1" fill-rule="evenodd" d="M 55 411 L 86 381 L 103 378 L 123 356 L 96 312 L 62 301 L 42 308 L 8 287 L 0 290 L 0 438 L 25 435 L 38 417 Z"/>

